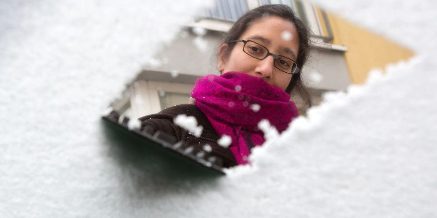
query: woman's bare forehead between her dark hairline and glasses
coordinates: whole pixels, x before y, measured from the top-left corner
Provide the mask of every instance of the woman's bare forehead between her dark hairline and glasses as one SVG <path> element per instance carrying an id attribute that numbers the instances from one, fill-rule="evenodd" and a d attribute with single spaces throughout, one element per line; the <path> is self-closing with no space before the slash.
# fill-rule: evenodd
<path id="1" fill-rule="evenodd" d="M 283 37 L 284 32 L 291 33 L 291 40 Z M 252 39 L 266 45 L 269 49 L 287 48 L 292 51 L 290 53 L 294 54 L 297 54 L 299 50 L 299 36 L 296 26 L 279 16 L 270 16 L 252 22 L 247 30 L 241 34 L 240 39 Z"/>

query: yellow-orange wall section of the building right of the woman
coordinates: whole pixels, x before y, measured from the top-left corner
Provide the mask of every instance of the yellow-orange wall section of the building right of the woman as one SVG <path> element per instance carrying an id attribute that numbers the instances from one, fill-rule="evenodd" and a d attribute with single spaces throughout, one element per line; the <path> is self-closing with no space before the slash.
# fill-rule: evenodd
<path id="1" fill-rule="evenodd" d="M 338 16 L 328 12 L 326 14 L 334 36 L 331 43 L 344 45 L 348 49 L 344 57 L 352 83 L 365 82 L 372 68 L 384 68 L 387 63 L 405 60 L 414 55 L 410 49 L 357 27 Z M 326 28 L 323 28 L 323 31 L 326 31 Z"/>

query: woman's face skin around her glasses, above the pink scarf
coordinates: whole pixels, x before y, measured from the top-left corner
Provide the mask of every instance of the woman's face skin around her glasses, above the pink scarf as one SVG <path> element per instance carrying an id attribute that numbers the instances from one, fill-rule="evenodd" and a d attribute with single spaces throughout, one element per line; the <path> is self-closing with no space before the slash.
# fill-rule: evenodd
<path id="1" fill-rule="evenodd" d="M 289 36 L 291 33 L 291 39 Z M 253 22 L 243 32 L 239 39 L 252 40 L 269 49 L 270 53 L 285 56 L 296 61 L 299 51 L 299 36 L 293 23 L 278 16 L 270 16 Z M 286 90 L 291 74 L 287 74 L 273 65 L 273 56 L 264 60 L 255 59 L 243 51 L 243 42 L 235 43 L 228 57 L 223 50 L 228 45 L 219 48 L 218 70 L 222 73 L 239 71 L 264 79 L 270 85 Z"/>

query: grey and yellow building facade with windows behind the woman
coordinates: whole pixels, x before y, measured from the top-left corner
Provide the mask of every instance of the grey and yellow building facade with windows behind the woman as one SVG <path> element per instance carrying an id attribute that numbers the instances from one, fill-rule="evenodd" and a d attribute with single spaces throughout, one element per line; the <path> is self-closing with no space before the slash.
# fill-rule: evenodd
<path id="1" fill-rule="evenodd" d="M 248 10 L 264 4 L 286 4 L 310 30 L 310 58 L 302 69 L 313 104 L 327 91 L 346 90 L 365 82 L 375 67 L 413 56 L 413 52 L 369 30 L 326 12 L 308 0 L 216 0 L 148 61 L 122 96 L 111 104 L 123 117 L 159 112 L 187 103 L 197 78 L 216 74 L 221 36 Z M 293 99 L 298 107 L 300 99 Z M 304 109 L 303 109 L 304 111 Z"/>

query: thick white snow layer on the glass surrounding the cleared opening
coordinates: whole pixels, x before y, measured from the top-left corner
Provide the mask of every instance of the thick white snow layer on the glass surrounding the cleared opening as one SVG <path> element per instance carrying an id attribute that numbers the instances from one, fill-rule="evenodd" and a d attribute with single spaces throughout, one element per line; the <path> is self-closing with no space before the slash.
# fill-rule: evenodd
<path id="1" fill-rule="evenodd" d="M 436 217 L 437 3 L 317 2 L 416 57 L 205 179 L 125 148 L 100 114 L 208 2 L 0 1 L 2 217 Z"/>

